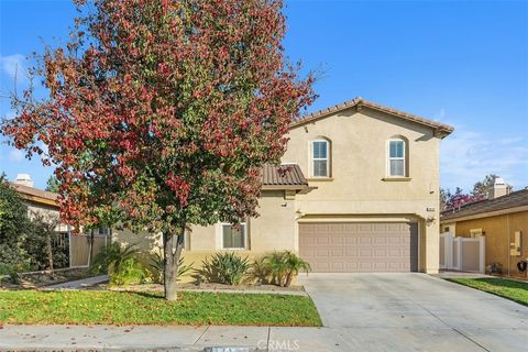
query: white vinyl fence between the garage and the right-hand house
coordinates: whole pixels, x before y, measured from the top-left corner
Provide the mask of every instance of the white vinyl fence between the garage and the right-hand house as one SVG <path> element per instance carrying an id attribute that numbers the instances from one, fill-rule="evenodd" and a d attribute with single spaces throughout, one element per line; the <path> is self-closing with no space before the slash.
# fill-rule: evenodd
<path id="1" fill-rule="evenodd" d="M 451 232 L 440 233 L 440 268 L 459 272 L 485 272 L 486 239 L 455 238 Z"/>

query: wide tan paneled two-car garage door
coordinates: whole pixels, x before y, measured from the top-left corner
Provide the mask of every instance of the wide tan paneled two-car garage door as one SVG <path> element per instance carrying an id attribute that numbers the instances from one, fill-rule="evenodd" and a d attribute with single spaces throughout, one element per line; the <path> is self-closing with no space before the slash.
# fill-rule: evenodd
<path id="1" fill-rule="evenodd" d="M 418 226 L 405 222 L 299 223 L 299 254 L 316 273 L 418 271 Z"/>

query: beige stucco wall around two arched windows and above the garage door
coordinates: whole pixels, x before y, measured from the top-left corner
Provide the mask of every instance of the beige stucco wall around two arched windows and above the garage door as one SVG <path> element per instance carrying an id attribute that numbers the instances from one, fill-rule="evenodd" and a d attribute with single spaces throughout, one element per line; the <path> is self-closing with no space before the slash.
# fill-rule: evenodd
<path id="1" fill-rule="evenodd" d="M 394 136 L 407 141 L 409 180 L 384 180 L 387 141 Z M 311 175 L 311 141 L 324 138 L 331 143 L 331 178 L 309 178 L 309 186 L 317 189 L 297 196 L 297 211 L 305 217 L 385 215 L 420 219 L 421 270 L 438 272 L 440 139 L 433 136 L 432 129 L 366 108 L 351 108 L 295 128 L 289 138 L 282 161 L 299 164 L 307 177 Z M 425 221 L 428 218 L 435 220 Z"/>

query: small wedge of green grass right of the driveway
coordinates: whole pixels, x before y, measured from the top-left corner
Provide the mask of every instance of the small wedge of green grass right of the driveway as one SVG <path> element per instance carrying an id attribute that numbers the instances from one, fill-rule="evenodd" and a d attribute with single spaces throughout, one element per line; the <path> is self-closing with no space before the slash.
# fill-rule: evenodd
<path id="1" fill-rule="evenodd" d="M 448 280 L 512 299 L 528 306 L 528 283 L 498 277 L 448 278 Z"/>

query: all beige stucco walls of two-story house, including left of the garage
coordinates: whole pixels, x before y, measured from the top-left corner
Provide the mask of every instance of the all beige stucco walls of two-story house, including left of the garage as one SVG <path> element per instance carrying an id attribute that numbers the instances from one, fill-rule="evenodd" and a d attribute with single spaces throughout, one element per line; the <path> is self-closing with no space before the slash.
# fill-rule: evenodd
<path id="1" fill-rule="evenodd" d="M 282 162 L 298 164 L 309 177 L 310 142 L 321 136 L 331 141 L 332 178 L 309 178 L 309 186 L 317 189 L 295 199 L 286 199 L 283 190 L 264 190 L 261 217 L 248 221 L 248 250 L 239 253 L 258 256 L 274 250 L 298 251 L 299 221 L 413 221 L 420 231 L 419 268 L 438 272 L 440 140 L 432 130 L 372 110 L 350 109 L 293 129 Z M 386 143 L 393 136 L 408 142 L 408 180 L 383 180 L 387 176 Z M 161 244 L 160 235 L 138 237 L 130 231 L 114 231 L 113 239 L 144 250 Z M 219 226 L 197 227 L 186 239 L 184 257 L 199 264 L 219 250 Z"/>

